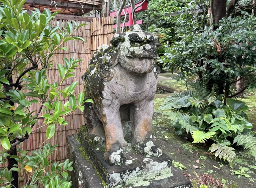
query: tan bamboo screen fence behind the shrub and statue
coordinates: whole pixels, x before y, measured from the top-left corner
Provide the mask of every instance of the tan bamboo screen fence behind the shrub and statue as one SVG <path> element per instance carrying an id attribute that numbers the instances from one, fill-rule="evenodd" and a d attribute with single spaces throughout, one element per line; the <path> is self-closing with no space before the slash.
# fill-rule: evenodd
<path id="1" fill-rule="evenodd" d="M 66 26 L 65 22 L 71 21 L 66 19 L 60 19 L 61 15 L 58 16 L 58 20 L 54 19 L 52 21 L 52 26 Z M 81 80 L 82 75 L 85 73 L 87 69 L 87 64 L 91 59 L 91 56 L 97 51 L 98 47 L 102 44 L 110 45 L 109 41 L 113 37 L 113 17 L 99 17 L 99 18 L 88 18 L 76 16 L 76 23 L 87 23 L 86 26 L 83 26 L 78 29 L 74 33 L 73 36 L 82 37 L 85 40 L 83 43 L 80 40 L 68 40 L 65 43 L 65 47 L 67 47 L 68 52 L 66 51 L 56 51 L 53 55 L 52 59 L 54 60 L 54 67 L 48 71 L 49 83 L 58 82 L 60 83 L 57 63 L 61 63 L 64 65 L 63 58 L 74 58 L 74 59 L 83 59 L 83 62 L 80 62 L 80 67 L 76 67 L 75 69 L 75 77 L 67 79 L 63 83 L 63 88 L 71 85 L 73 82 L 78 81 L 78 86 L 76 87 L 75 96 L 78 95 L 79 92 L 83 91 L 83 83 Z M 63 89 L 61 88 L 61 89 Z M 64 101 L 66 102 L 66 101 Z M 39 109 L 40 105 L 33 104 L 33 109 Z M 29 136 L 28 140 L 25 140 L 19 147 L 22 147 L 24 150 L 28 151 L 28 155 L 31 155 L 33 150 L 37 150 L 38 148 L 42 148 L 46 143 L 50 143 L 50 145 L 57 144 L 57 150 L 54 151 L 50 156 L 50 160 L 52 161 L 60 161 L 63 162 L 66 159 L 66 137 L 70 134 L 76 134 L 81 125 L 84 124 L 83 115 L 81 111 L 76 111 L 73 114 L 70 114 L 65 119 L 68 122 L 67 126 L 56 126 L 56 132 L 52 138 L 49 140 L 46 139 L 46 127 L 41 127 L 43 125 L 43 120 L 39 120 L 37 124 L 34 126 L 32 133 Z M 3 148 L 0 146 L 0 151 Z M 25 179 L 28 180 L 31 173 L 25 171 Z M 19 187 L 22 187 L 24 184 L 23 180 L 19 181 Z M 41 185 L 39 185 L 41 187 Z"/>

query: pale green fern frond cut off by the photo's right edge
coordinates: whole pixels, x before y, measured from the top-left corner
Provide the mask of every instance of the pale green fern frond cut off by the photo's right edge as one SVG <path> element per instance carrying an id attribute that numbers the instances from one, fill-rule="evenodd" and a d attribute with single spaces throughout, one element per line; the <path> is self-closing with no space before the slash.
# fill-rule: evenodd
<path id="1" fill-rule="evenodd" d="M 253 136 L 256 131 L 253 131 L 249 134 L 238 134 L 234 138 L 234 143 L 237 142 L 237 145 L 242 145 L 244 146 L 244 149 L 249 149 L 250 154 L 252 154 L 253 157 L 255 157 L 256 160 L 256 138 Z"/>

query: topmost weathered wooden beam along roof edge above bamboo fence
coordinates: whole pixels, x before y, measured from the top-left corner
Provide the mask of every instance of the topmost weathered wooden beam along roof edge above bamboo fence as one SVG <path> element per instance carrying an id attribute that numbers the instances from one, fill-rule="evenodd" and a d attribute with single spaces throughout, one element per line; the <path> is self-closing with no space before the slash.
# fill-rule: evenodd
<path id="1" fill-rule="evenodd" d="M 75 8 L 75 9 L 81 9 L 82 5 L 84 9 L 96 9 L 96 10 L 101 10 L 102 9 L 102 5 L 101 6 L 95 6 L 95 5 L 87 5 L 87 4 L 78 4 L 78 3 L 68 3 L 68 2 L 64 2 L 64 1 L 54 1 L 55 3 L 52 3 L 52 7 L 54 7 L 56 5 L 56 7 L 58 8 Z M 26 0 L 25 4 L 31 4 L 31 5 L 45 5 L 45 6 L 50 6 L 51 5 L 51 1 L 48 0 Z"/>

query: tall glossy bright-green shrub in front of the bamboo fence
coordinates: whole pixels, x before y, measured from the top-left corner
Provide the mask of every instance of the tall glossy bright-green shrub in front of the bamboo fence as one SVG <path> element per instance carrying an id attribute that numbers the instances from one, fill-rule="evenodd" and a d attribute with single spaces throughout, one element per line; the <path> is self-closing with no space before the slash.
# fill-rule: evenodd
<path id="1" fill-rule="evenodd" d="M 57 64 L 60 83 L 50 83 L 47 74 L 55 63 L 51 57 L 56 50 L 67 51 L 62 46 L 68 40 L 84 42 L 83 38 L 72 35 L 85 23 L 77 25 L 73 21 L 66 26 L 52 27 L 50 22 L 59 11 L 51 13 L 45 9 L 41 13 L 35 9 L 29 14 L 22 8 L 24 3 L 25 0 L 1 0 L 0 3 L 0 140 L 6 149 L 1 152 L 0 164 L 6 160 L 9 164 L 9 171 L 1 170 L 0 181 L 7 183 L 7 187 L 18 187 L 18 172 L 27 164 L 33 175 L 25 187 L 34 188 L 37 183 L 54 187 L 55 183 L 56 187 L 68 188 L 71 182 L 64 183 L 69 181 L 64 167 L 68 164 L 71 170 L 69 161 L 49 164 L 47 160 L 55 145 L 46 145 L 43 150 L 34 151 L 33 156 L 25 156 L 26 151 L 18 150 L 21 158 L 17 157 L 16 145 L 42 126 L 47 127 L 46 137 L 51 138 L 56 124 L 68 124 L 65 116 L 78 109 L 83 111 L 83 103 L 92 102 L 91 99 L 84 101 L 83 93 L 74 95 L 78 82 L 62 87 L 68 78 L 74 77 L 74 68 L 82 59 L 64 58 L 64 66 Z M 34 109 L 33 104 L 40 107 Z M 44 120 L 42 125 L 36 124 L 39 119 Z M 49 165 L 51 170 L 44 175 L 42 170 Z"/>

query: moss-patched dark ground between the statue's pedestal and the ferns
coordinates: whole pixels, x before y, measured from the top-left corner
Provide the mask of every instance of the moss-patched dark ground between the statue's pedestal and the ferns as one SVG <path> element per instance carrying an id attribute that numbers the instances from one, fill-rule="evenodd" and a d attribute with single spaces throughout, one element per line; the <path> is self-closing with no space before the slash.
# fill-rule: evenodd
<path id="1" fill-rule="evenodd" d="M 234 161 L 233 169 L 230 168 L 227 162 L 223 162 L 215 156 L 204 154 L 208 152 L 210 145 L 192 143 L 191 136 L 184 133 L 178 136 L 171 126 L 171 122 L 166 115 L 158 111 L 159 106 L 170 94 L 158 94 L 155 96 L 154 105 L 155 113 L 153 116 L 153 137 L 156 139 L 159 147 L 168 154 L 173 161 L 179 162 L 186 167 L 182 172 L 190 175 L 190 179 L 196 178 L 200 174 L 213 175 L 216 179 L 222 181 L 227 180 L 226 184 L 231 187 L 247 188 L 256 187 L 256 161 L 255 158 L 249 155 L 241 147 L 237 147 L 237 158 Z M 256 94 L 246 94 L 245 98 L 241 99 L 246 102 L 250 110 L 247 115 L 249 121 L 253 125 L 256 124 Z M 255 130 L 256 128 L 254 128 Z M 199 163 L 196 161 L 199 160 Z M 195 168 L 193 165 L 199 167 Z M 251 177 L 246 178 L 234 173 L 233 170 L 241 171 L 244 169 L 247 175 Z"/>

